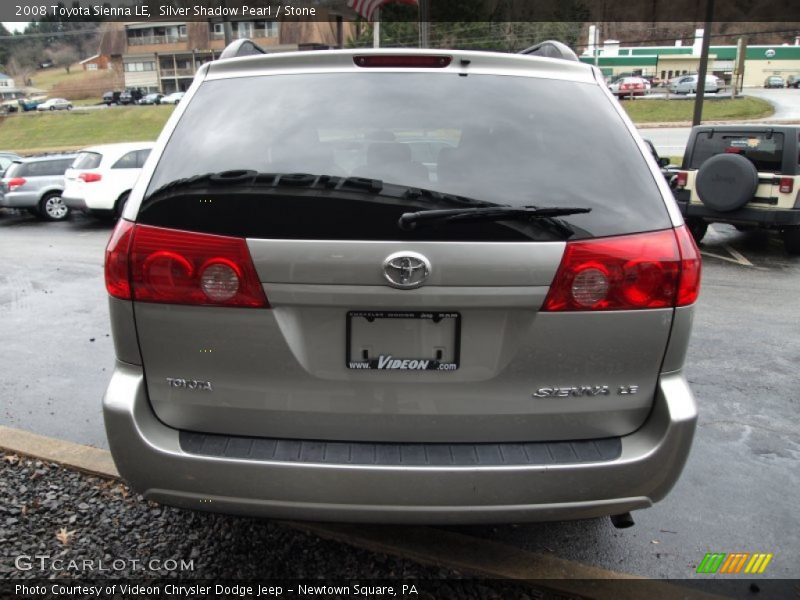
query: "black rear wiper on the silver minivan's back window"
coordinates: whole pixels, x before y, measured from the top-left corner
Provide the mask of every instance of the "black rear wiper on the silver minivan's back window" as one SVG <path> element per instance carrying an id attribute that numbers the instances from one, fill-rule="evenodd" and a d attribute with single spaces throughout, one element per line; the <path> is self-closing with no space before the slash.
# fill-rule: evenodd
<path id="1" fill-rule="evenodd" d="M 552 225 L 565 237 L 574 231 L 557 217 L 580 215 L 592 212 L 591 208 L 536 206 L 490 206 L 480 208 L 453 208 L 445 210 L 423 210 L 407 212 L 397 221 L 400 229 L 410 230 L 420 225 L 463 223 L 467 221 L 528 221 L 543 220 Z"/>

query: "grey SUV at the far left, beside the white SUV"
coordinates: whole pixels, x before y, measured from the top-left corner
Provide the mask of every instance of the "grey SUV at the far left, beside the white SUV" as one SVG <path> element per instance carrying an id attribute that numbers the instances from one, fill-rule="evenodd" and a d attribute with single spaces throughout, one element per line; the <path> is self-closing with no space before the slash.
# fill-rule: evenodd
<path id="1" fill-rule="evenodd" d="M 69 208 L 61 201 L 64 171 L 74 154 L 14 160 L 0 179 L 0 207 L 24 208 L 47 221 L 63 221 Z"/>

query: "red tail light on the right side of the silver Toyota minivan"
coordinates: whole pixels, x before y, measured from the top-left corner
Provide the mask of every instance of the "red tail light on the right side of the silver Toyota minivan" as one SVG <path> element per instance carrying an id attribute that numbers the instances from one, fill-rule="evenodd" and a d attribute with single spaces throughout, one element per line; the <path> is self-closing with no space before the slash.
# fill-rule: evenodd
<path id="1" fill-rule="evenodd" d="M 685 227 L 567 242 L 543 311 L 685 306 L 700 293 L 700 253 Z"/>

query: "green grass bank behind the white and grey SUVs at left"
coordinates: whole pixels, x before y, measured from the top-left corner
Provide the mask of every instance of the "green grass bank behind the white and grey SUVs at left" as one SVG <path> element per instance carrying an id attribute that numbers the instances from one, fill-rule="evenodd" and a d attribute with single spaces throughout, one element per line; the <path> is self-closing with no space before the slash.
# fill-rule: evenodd
<path id="1" fill-rule="evenodd" d="M 30 154 L 155 140 L 173 110 L 173 106 L 131 106 L 14 114 L 0 120 L 0 146 Z"/>

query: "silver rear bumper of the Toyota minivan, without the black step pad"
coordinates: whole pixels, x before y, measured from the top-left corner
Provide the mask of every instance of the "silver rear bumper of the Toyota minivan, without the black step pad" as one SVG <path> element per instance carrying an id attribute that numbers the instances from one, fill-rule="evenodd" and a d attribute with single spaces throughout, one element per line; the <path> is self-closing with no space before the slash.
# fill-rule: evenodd
<path id="1" fill-rule="evenodd" d="M 182 449 L 150 408 L 139 366 L 117 363 L 103 399 L 122 476 L 150 500 L 286 519 L 487 523 L 589 518 L 646 508 L 678 479 L 697 409 L 680 373 L 662 375 L 645 424 L 618 458 L 578 464 L 390 466 L 249 460 Z"/>

